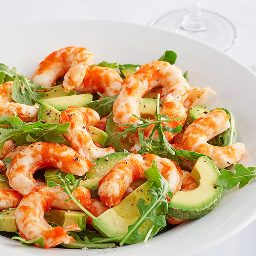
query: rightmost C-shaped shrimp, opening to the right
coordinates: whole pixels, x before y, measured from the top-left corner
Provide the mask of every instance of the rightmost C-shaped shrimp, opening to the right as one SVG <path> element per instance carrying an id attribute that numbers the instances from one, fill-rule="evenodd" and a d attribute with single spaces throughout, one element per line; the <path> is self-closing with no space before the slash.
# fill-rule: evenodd
<path id="1" fill-rule="evenodd" d="M 230 166 L 238 162 L 245 153 L 244 144 L 235 143 L 230 146 L 218 147 L 207 143 L 212 137 L 221 134 L 229 127 L 229 115 L 223 110 L 215 109 L 206 116 L 196 119 L 186 128 L 181 148 L 206 154 L 212 158 L 218 169 Z"/>

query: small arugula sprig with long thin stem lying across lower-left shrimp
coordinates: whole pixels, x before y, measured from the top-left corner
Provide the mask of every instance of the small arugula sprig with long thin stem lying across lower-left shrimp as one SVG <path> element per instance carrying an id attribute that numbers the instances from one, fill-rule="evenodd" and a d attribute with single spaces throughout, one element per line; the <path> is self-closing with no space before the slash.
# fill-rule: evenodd
<path id="1" fill-rule="evenodd" d="M 61 183 L 58 184 L 55 181 L 47 180 L 47 186 L 49 186 L 49 187 L 61 186 L 64 189 L 64 192 L 66 192 L 67 195 L 70 196 L 70 198 L 65 200 L 65 202 L 72 200 L 84 213 L 86 213 L 88 216 L 90 216 L 93 220 L 97 219 L 93 214 L 91 214 L 87 209 L 85 209 L 80 204 L 79 200 L 77 200 L 73 195 L 74 190 L 79 186 L 79 184 L 81 182 L 81 178 L 76 180 L 76 178 L 72 174 L 67 174 L 64 178 L 61 177 L 61 174 L 52 175 L 52 177 L 60 178 Z M 71 188 L 71 186 L 72 186 L 72 188 Z"/>

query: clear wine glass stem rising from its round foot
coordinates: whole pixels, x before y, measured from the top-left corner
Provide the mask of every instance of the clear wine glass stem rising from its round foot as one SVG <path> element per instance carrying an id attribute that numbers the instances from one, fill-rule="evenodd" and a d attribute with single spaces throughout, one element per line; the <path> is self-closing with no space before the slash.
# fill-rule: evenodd
<path id="1" fill-rule="evenodd" d="M 204 23 L 201 12 L 201 1 L 190 0 L 188 3 L 189 13 L 184 16 L 180 28 L 191 32 L 204 32 L 207 26 Z"/>

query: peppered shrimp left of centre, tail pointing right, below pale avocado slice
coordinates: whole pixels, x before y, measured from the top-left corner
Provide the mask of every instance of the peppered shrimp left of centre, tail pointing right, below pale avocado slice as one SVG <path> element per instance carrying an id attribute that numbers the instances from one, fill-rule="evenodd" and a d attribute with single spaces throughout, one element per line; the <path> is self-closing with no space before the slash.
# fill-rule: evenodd
<path id="1" fill-rule="evenodd" d="M 68 133 L 63 136 L 71 147 L 83 157 L 94 160 L 115 152 L 112 146 L 108 148 L 97 147 L 87 132 L 87 125 L 96 126 L 100 122 L 99 114 L 95 110 L 85 107 L 69 107 L 61 113 L 60 123 L 66 122 L 70 122 L 70 126 L 67 128 Z"/>

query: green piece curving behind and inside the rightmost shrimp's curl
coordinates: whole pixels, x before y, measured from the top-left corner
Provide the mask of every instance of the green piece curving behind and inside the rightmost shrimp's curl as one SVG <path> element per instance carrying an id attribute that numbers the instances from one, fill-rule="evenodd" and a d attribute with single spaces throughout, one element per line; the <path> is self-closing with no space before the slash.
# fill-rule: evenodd
<path id="1" fill-rule="evenodd" d="M 234 116 L 227 108 L 216 109 L 224 110 L 230 116 L 230 128 L 228 128 L 226 131 L 219 134 L 218 136 L 214 137 L 212 140 L 209 140 L 208 143 L 219 147 L 231 146 L 232 144 L 236 143 L 237 138 Z"/>

